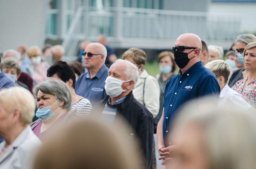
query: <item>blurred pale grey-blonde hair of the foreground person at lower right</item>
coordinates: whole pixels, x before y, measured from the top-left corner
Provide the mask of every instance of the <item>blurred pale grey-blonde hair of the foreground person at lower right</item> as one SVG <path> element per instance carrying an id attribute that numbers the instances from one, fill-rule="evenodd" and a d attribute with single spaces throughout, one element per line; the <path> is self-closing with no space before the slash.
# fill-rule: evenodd
<path id="1" fill-rule="evenodd" d="M 191 125 L 202 128 L 202 139 L 209 153 L 209 168 L 254 169 L 256 166 L 255 112 L 226 104 L 217 107 L 208 99 L 190 102 L 176 117 L 172 132 Z"/>

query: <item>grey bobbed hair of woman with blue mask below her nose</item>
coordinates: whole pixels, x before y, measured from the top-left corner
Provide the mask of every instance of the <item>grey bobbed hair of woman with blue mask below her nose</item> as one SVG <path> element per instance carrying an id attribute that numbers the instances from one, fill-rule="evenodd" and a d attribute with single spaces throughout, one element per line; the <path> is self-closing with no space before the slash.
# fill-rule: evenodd
<path id="1" fill-rule="evenodd" d="M 61 103 L 61 101 L 64 101 L 64 104 L 62 106 L 63 109 L 66 108 L 68 111 L 71 109 L 71 91 L 68 85 L 63 81 L 51 77 L 47 78 L 45 81 L 33 87 L 33 93 L 35 96 L 37 96 L 39 90 L 45 94 L 54 95 L 56 100 L 59 99 L 59 103 Z"/>

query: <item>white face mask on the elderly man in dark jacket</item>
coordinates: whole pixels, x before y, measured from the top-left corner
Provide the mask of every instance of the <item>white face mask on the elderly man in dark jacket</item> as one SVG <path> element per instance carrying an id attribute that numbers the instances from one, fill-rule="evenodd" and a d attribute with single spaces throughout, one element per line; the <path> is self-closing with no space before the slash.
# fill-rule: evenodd
<path id="1" fill-rule="evenodd" d="M 105 90 L 107 95 L 109 95 L 110 97 L 117 97 L 123 92 L 125 92 L 126 90 L 123 90 L 121 86 L 124 82 L 127 82 L 127 81 L 131 81 L 131 80 L 123 81 L 123 80 L 113 78 L 111 76 L 107 77 L 105 80 L 105 83 L 106 83 Z"/>

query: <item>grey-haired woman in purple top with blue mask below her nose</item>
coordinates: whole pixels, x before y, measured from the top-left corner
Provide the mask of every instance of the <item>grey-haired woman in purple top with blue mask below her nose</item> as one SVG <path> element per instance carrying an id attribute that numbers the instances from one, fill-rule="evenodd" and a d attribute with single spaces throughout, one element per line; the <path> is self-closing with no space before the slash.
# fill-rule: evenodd
<path id="1" fill-rule="evenodd" d="M 38 108 L 35 116 L 39 119 L 30 126 L 34 134 L 43 140 L 56 125 L 75 116 L 76 110 L 71 110 L 71 92 L 63 81 L 48 78 L 34 86 L 33 93 L 37 97 Z"/>

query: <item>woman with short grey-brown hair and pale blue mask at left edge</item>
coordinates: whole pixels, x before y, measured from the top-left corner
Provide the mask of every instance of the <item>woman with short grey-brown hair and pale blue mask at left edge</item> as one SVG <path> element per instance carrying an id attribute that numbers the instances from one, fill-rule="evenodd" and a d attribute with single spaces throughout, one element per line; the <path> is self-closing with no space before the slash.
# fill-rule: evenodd
<path id="1" fill-rule="evenodd" d="M 19 61 L 13 57 L 2 60 L 0 68 L 4 70 L 4 74 L 13 79 L 17 86 L 24 87 L 29 90 L 28 86 L 23 82 L 18 81 L 21 74 L 21 65 Z"/>

